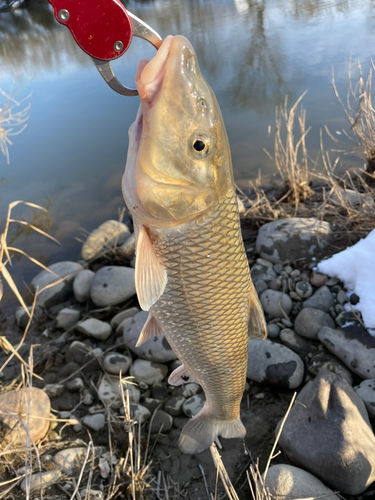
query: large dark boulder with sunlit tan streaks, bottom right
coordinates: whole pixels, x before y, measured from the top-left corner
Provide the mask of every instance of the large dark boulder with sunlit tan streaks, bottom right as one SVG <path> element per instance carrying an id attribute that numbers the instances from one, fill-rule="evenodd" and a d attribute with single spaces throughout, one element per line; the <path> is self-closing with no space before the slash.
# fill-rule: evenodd
<path id="1" fill-rule="evenodd" d="M 284 452 L 331 488 L 362 493 L 375 480 L 375 436 L 362 400 L 341 377 L 323 372 L 297 401 L 280 436 Z"/>

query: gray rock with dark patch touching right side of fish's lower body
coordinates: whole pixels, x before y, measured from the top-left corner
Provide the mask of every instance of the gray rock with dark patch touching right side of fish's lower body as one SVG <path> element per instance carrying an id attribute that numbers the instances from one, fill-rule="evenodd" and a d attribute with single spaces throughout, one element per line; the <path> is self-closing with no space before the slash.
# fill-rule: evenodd
<path id="1" fill-rule="evenodd" d="M 249 379 L 294 389 L 301 384 L 303 375 L 303 361 L 295 352 L 267 339 L 249 340 Z"/>

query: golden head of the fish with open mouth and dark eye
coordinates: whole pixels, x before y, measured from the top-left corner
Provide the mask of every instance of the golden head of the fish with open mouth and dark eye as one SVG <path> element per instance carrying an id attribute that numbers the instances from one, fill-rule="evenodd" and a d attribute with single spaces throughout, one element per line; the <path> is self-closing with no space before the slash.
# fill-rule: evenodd
<path id="1" fill-rule="evenodd" d="M 183 36 L 141 61 L 141 108 L 130 130 L 125 200 L 156 226 L 192 220 L 233 188 L 229 142 L 216 97 Z"/>

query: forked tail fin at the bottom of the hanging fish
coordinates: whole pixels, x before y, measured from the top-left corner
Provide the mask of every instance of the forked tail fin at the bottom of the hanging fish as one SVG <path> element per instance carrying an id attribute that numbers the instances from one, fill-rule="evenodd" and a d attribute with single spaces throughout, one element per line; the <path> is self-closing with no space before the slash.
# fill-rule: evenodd
<path id="1" fill-rule="evenodd" d="M 183 453 L 201 453 L 219 435 L 223 438 L 243 438 L 246 429 L 240 417 L 229 421 L 215 420 L 203 409 L 182 429 L 178 445 Z"/>

